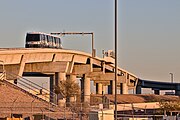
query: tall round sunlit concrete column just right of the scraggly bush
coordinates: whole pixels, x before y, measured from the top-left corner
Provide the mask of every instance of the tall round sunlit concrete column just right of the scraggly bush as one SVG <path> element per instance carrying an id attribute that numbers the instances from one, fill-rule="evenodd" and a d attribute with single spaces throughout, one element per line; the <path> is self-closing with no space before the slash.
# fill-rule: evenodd
<path id="1" fill-rule="evenodd" d="M 86 75 L 84 75 L 84 102 L 90 102 L 90 78 L 86 77 Z"/>

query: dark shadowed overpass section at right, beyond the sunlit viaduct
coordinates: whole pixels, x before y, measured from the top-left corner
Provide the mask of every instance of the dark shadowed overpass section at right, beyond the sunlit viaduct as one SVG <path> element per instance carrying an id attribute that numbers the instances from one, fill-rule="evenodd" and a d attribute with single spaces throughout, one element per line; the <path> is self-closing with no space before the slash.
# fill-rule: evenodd
<path id="1" fill-rule="evenodd" d="M 175 90 L 175 95 L 180 96 L 180 83 L 158 82 L 139 79 L 136 86 L 136 94 L 141 94 L 141 88 L 152 88 L 155 94 L 160 90 Z"/>

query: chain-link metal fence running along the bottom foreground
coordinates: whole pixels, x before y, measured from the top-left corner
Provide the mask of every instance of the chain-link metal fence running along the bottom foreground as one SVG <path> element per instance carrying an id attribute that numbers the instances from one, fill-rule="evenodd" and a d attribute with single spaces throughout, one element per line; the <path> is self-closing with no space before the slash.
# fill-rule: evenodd
<path id="1" fill-rule="evenodd" d="M 98 105 L 96 105 L 98 106 Z M 91 106 L 88 103 L 68 103 L 68 106 L 64 104 L 63 107 L 54 107 L 50 104 L 41 103 L 41 102 L 0 102 L 0 118 L 13 117 L 13 115 L 21 115 L 23 118 L 30 117 L 35 119 L 35 116 L 41 116 L 49 120 L 50 118 L 55 120 L 68 119 L 68 120 L 88 120 L 94 117 L 98 120 L 107 120 L 107 118 L 114 116 L 113 112 L 107 112 L 109 109 L 99 109 L 98 107 Z M 94 116 L 94 117 L 92 117 Z M 117 113 L 118 120 L 162 120 L 164 116 L 160 114 L 158 110 L 145 110 L 141 111 L 129 110 L 129 111 L 118 111 Z M 176 118 L 180 119 L 178 114 L 173 117 L 167 118 Z M 36 119 L 35 119 L 36 120 Z M 93 119 L 92 119 L 93 120 Z"/>

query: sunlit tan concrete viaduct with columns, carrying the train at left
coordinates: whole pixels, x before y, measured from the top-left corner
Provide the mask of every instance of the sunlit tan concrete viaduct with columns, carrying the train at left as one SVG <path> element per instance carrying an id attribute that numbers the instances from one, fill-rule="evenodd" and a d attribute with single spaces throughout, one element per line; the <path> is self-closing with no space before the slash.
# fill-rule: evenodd
<path id="1" fill-rule="evenodd" d="M 0 49 L 0 72 L 13 73 L 18 76 L 42 73 L 51 75 L 51 89 L 62 80 L 81 78 L 84 101 L 90 101 L 90 81 L 96 85 L 96 93 L 108 89 L 108 94 L 115 94 L 115 65 L 111 57 L 92 57 L 84 52 L 48 49 L 48 48 L 5 48 Z M 6 76 L 9 81 L 16 77 Z M 121 94 L 128 94 L 135 89 L 138 77 L 118 67 L 118 89 Z"/>

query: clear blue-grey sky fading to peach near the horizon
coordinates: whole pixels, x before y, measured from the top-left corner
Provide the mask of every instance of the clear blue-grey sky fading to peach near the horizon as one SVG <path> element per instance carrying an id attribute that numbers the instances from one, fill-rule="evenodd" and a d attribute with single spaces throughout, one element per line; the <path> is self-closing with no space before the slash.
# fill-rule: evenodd
<path id="1" fill-rule="evenodd" d="M 170 81 L 172 72 L 180 82 L 180 0 L 118 3 L 119 66 L 159 81 Z M 114 0 L 1 0 L 0 47 L 24 47 L 29 31 L 94 32 L 101 57 L 114 49 Z M 62 39 L 65 48 L 91 50 L 90 37 Z"/>

